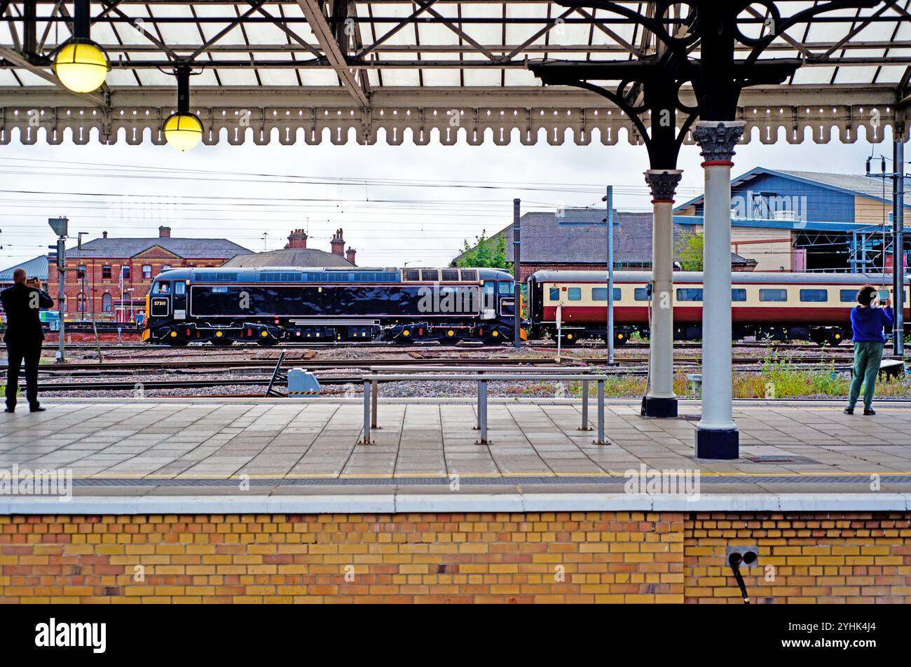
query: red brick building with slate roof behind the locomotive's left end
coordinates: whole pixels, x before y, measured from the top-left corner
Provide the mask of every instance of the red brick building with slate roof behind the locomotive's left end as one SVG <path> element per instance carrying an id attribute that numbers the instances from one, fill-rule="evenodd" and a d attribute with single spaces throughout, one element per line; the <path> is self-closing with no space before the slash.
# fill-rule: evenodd
<path id="1" fill-rule="evenodd" d="M 250 252 L 227 239 L 181 239 L 159 227 L 158 238 L 100 239 L 67 248 L 67 320 L 130 319 L 145 307 L 152 279 L 179 266 L 220 266 L 238 253 Z M 56 252 L 47 257 L 47 287 L 56 301 L 59 290 Z M 122 280 L 121 280 L 122 276 Z"/>

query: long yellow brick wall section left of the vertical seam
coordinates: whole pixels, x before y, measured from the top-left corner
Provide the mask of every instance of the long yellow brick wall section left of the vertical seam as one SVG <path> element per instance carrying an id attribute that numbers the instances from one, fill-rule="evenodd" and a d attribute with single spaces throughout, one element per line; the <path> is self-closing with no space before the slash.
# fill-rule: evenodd
<path id="1" fill-rule="evenodd" d="M 0 602 L 681 602 L 682 539 L 636 512 L 5 516 Z"/>

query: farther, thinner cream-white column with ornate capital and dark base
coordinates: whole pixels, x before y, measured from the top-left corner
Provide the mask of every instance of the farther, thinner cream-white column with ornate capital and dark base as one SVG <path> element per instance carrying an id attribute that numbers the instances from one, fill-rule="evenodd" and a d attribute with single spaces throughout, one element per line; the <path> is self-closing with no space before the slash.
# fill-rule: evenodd
<path id="1" fill-rule="evenodd" d="M 673 313 L 673 204 L 680 169 L 649 169 L 645 180 L 651 189 L 654 219 L 651 228 L 651 321 L 649 343 L 649 393 L 642 414 L 677 416 L 674 394 Z"/>

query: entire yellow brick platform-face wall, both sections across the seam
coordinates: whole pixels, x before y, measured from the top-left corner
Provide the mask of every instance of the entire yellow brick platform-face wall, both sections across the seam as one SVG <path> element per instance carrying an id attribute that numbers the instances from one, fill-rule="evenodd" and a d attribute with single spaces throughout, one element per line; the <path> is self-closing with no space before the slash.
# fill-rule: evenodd
<path id="1" fill-rule="evenodd" d="M 0 516 L 0 602 L 740 604 L 729 544 L 755 602 L 911 601 L 908 513 L 542 512 Z"/>

